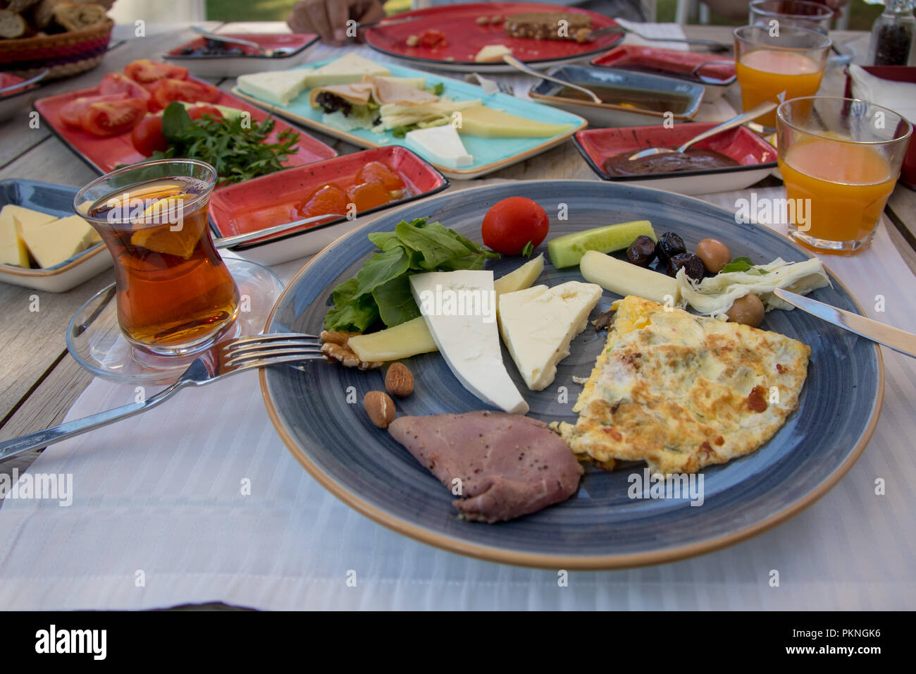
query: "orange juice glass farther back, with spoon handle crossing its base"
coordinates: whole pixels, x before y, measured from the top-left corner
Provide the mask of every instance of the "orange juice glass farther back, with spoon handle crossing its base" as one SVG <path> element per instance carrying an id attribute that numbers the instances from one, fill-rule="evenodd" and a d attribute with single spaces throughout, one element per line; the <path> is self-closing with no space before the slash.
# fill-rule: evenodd
<path id="1" fill-rule="evenodd" d="M 826 35 L 807 28 L 735 28 L 735 72 L 745 112 L 764 101 L 781 103 L 816 94 L 831 44 Z M 775 127 L 776 111 L 755 121 Z"/>

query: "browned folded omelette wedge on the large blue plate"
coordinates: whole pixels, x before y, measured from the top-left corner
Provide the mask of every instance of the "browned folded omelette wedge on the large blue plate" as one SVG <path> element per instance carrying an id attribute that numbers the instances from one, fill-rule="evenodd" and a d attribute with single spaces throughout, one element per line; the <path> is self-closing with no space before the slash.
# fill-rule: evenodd
<path id="1" fill-rule="evenodd" d="M 580 460 L 692 473 L 753 452 L 798 407 L 811 348 L 629 295 L 583 392 L 556 426 Z"/>

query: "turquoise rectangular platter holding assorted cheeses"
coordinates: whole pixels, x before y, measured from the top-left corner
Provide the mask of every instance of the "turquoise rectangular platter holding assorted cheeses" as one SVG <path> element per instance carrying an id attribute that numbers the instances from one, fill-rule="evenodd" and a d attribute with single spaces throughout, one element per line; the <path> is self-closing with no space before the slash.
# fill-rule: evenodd
<path id="1" fill-rule="evenodd" d="M 315 61 L 308 65 L 300 66 L 300 68 L 320 68 L 322 65 L 330 63 L 331 61 L 335 61 L 335 59 Z M 433 162 L 430 157 L 425 156 L 423 152 L 411 148 L 423 157 L 423 159 L 430 161 L 433 166 L 439 169 L 439 171 L 442 171 L 442 173 L 449 178 L 468 180 L 485 175 L 485 173 L 491 171 L 504 169 L 517 161 L 529 159 L 529 157 L 540 154 L 540 152 L 546 149 L 559 145 L 568 138 L 571 138 L 573 133 L 587 126 L 587 122 L 583 117 L 558 110 L 549 105 L 527 101 L 501 92 L 484 94 L 484 91 L 479 86 L 464 83 L 451 77 L 440 77 L 432 75 L 429 72 L 404 68 L 389 63 L 385 65 L 391 71 L 392 77 L 425 77 L 427 86 L 442 83 L 444 86 L 442 94 L 456 101 L 467 101 L 479 98 L 484 105 L 497 110 L 503 110 L 511 115 L 536 119 L 539 122 L 546 122 L 547 124 L 571 125 L 568 131 L 550 138 L 478 138 L 474 136 L 462 136 L 465 149 L 474 157 L 474 163 L 462 169 L 446 166 L 444 164 L 437 164 Z M 256 105 L 265 107 L 280 116 L 287 117 L 294 122 L 299 122 L 306 127 L 317 129 L 335 138 L 343 138 L 363 148 L 377 148 L 384 145 L 407 146 L 403 138 L 395 138 L 390 131 L 382 134 L 377 134 L 367 128 L 341 131 L 340 129 L 322 124 L 322 110 L 320 108 L 313 109 L 311 105 L 309 105 L 309 90 L 297 96 L 289 105 L 267 104 L 255 96 L 245 94 L 238 86 L 233 88 L 233 94 L 245 98 L 245 100 L 251 101 Z"/>

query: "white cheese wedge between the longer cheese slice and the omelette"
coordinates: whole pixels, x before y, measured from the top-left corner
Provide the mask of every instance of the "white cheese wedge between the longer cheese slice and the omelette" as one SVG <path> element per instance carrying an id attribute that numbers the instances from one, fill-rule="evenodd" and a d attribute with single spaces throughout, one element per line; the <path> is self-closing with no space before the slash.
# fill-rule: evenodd
<path id="1" fill-rule="evenodd" d="M 499 296 L 499 331 L 531 391 L 550 386 L 557 363 L 570 355 L 570 342 L 585 329 L 599 299 L 600 285 L 578 281 Z"/>

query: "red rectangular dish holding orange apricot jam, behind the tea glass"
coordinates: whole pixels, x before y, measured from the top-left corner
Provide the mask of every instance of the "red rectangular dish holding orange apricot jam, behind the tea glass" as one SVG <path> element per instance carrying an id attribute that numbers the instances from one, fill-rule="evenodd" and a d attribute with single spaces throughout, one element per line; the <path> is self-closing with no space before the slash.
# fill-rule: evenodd
<path id="1" fill-rule="evenodd" d="M 309 166 L 299 166 L 254 180 L 226 185 L 214 191 L 210 198 L 210 223 L 217 236 L 232 237 L 299 220 L 302 216 L 298 213 L 298 208 L 311 193 L 329 183 L 345 191 L 354 183 L 356 173 L 369 161 L 380 161 L 397 173 L 409 193 L 395 201 L 362 211 L 358 214 L 360 216 L 407 204 L 424 196 L 442 192 L 449 186 L 442 173 L 407 148 L 392 145 L 365 149 Z M 283 234 L 256 239 L 234 249 L 249 249 L 297 236 L 305 230 L 320 229 L 341 222 L 344 222 L 344 218 L 318 225 L 303 225 Z"/>

